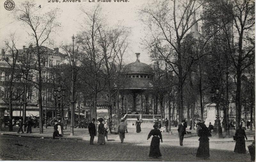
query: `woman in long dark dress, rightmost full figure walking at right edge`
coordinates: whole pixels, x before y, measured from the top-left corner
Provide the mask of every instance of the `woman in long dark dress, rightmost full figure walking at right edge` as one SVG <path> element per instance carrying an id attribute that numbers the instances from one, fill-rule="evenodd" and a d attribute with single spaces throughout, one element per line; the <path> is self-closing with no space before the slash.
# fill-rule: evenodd
<path id="1" fill-rule="evenodd" d="M 239 125 L 239 129 L 236 130 L 235 136 L 236 136 L 236 146 L 235 146 L 234 152 L 246 154 L 244 137 L 246 138 L 246 140 L 247 140 L 247 137 L 244 129 L 242 129 L 242 125 Z"/>

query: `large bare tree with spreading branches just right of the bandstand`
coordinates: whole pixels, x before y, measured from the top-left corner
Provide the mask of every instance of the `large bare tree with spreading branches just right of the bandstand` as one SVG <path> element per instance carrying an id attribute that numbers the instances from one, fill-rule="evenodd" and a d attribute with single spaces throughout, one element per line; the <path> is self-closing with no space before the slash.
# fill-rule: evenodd
<path id="1" fill-rule="evenodd" d="M 183 84 L 192 64 L 198 59 L 189 53 L 184 55 L 182 41 L 191 27 L 204 19 L 203 16 L 195 21 L 192 18 L 204 2 L 165 0 L 153 1 L 152 4 L 154 5 L 149 4 L 142 9 L 141 13 L 146 17 L 143 21 L 149 24 L 148 27 L 152 33 L 153 43 L 151 45 L 156 46 L 159 55 L 162 55 L 162 59 L 172 67 L 178 77 L 178 109 L 179 122 L 181 122 L 183 119 Z"/>

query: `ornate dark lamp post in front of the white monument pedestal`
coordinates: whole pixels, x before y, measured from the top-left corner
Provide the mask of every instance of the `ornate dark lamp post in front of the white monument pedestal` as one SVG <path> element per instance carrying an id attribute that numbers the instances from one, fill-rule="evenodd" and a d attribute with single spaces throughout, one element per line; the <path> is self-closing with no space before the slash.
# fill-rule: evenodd
<path id="1" fill-rule="evenodd" d="M 213 127 L 213 133 L 216 134 L 217 137 L 222 137 L 219 106 L 223 100 L 223 96 L 220 94 L 219 88 L 212 89 L 211 100 L 212 100 L 212 102 L 216 103 L 216 111 L 217 111 L 216 120 L 215 120 L 214 127 Z"/>

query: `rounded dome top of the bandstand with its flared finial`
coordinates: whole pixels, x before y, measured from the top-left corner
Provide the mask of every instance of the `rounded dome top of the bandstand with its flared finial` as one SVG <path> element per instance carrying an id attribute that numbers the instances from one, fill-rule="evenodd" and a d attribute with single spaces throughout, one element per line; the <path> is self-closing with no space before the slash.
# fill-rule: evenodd
<path id="1" fill-rule="evenodd" d="M 152 68 L 146 63 L 140 63 L 140 53 L 136 53 L 137 60 L 124 66 L 123 73 L 148 73 L 153 74 Z"/>

